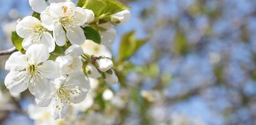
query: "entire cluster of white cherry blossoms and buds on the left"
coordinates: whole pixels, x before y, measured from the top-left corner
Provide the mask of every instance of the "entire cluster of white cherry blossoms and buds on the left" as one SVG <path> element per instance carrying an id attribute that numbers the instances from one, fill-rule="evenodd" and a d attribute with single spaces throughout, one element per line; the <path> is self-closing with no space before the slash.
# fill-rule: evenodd
<path id="1" fill-rule="evenodd" d="M 26 16 L 16 26 L 24 52 L 15 52 L 6 61 L 10 72 L 4 83 L 11 93 L 29 89 L 38 106 L 50 106 L 51 116 L 59 119 L 71 104 L 84 101 L 91 88 L 89 78 L 118 83 L 109 49 L 116 37 L 114 26 L 128 21 L 130 11 L 117 12 L 98 24 L 106 30 L 99 31 L 101 44 L 97 44 L 83 31 L 95 21 L 90 9 L 68 0 L 29 0 L 29 5 L 40 17 Z M 64 51 L 56 55 L 58 48 Z"/>

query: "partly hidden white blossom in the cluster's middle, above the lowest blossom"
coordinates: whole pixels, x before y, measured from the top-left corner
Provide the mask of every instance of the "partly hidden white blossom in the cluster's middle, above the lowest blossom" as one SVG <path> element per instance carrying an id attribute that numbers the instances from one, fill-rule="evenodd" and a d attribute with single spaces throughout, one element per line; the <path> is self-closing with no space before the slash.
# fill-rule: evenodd
<path id="1" fill-rule="evenodd" d="M 81 54 L 83 54 L 83 49 L 78 45 L 72 45 L 65 51 L 65 56 L 56 58 L 61 74 L 73 74 L 80 71 L 83 66 L 79 58 Z"/>

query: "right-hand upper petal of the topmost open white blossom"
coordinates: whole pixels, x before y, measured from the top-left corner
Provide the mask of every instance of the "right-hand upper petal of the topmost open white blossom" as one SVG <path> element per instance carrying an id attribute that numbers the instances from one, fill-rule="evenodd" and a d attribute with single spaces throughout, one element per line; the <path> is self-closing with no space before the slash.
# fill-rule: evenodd
<path id="1" fill-rule="evenodd" d="M 74 26 L 82 26 L 87 21 L 87 13 L 83 8 L 76 7 L 76 14 L 74 14 Z"/>

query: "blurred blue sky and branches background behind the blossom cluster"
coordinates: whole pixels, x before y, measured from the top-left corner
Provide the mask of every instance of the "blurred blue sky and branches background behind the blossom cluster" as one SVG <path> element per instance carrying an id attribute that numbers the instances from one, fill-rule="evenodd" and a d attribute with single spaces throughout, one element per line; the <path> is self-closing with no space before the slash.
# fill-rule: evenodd
<path id="1" fill-rule="evenodd" d="M 120 84 L 100 84 L 84 111 L 86 121 L 256 124 L 256 1 L 122 2 L 131 7 L 131 20 L 117 27 L 114 58 L 127 32 L 135 30 L 138 39 L 150 40 L 128 61 L 116 63 Z M 13 46 L 16 20 L 32 12 L 28 0 L 0 0 L 0 50 Z M 6 59 L 0 57 L 0 122 L 35 124 L 26 112 L 33 96 L 11 95 L 3 84 Z"/>

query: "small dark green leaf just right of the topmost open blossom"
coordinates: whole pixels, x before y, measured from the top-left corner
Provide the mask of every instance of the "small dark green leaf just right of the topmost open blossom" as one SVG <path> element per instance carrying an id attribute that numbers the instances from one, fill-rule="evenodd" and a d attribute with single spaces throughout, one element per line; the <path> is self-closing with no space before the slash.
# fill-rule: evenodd
<path id="1" fill-rule="evenodd" d="M 86 36 L 86 39 L 90 39 L 93 42 L 100 44 L 101 42 L 100 33 L 95 29 L 93 29 L 93 27 L 86 26 L 83 28 L 83 31 L 84 31 L 84 35 Z"/>

